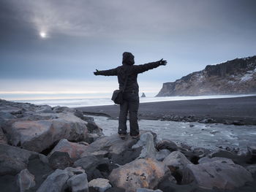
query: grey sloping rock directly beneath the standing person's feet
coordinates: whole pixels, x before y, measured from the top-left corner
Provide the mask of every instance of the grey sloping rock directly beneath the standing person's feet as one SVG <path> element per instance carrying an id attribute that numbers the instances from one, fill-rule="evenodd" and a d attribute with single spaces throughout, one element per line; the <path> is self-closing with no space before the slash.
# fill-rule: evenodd
<path id="1" fill-rule="evenodd" d="M 110 161 L 114 164 L 127 164 L 140 155 L 141 148 L 132 149 L 132 146 L 135 145 L 136 142 L 138 142 L 138 139 L 132 139 L 132 137 L 128 135 L 124 140 L 121 139 L 118 134 L 113 134 L 109 137 L 100 137 L 86 147 L 81 157 L 105 150 L 108 151 L 108 158 L 110 158 Z"/>

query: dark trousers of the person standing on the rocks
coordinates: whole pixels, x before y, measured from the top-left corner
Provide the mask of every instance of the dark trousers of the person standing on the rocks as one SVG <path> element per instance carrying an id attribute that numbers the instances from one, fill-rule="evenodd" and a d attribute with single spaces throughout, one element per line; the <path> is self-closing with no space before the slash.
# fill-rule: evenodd
<path id="1" fill-rule="evenodd" d="M 124 93 L 124 103 L 120 104 L 118 134 L 127 134 L 127 115 L 129 112 L 129 129 L 130 135 L 135 136 L 140 133 L 138 126 L 138 93 Z"/>

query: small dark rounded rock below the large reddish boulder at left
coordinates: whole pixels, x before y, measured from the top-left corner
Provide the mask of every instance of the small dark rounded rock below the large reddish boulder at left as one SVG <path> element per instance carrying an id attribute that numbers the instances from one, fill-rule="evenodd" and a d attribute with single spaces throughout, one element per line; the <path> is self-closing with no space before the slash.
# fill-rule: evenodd
<path id="1" fill-rule="evenodd" d="M 73 164 L 73 161 L 67 152 L 55 151 L 50 155 L 48 160 L 52 169 L 65 169 Z"/>

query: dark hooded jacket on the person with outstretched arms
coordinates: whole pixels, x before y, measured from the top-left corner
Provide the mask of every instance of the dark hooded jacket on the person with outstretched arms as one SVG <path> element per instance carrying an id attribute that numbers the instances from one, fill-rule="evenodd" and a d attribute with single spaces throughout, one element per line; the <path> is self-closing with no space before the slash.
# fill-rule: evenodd
<path id="1" fill-rule="evenodd" d="M 157 68 L 158 66 L 161 65 L 160 61 L 143 64 L 143 65 L 134 65 L 134 56 L 132 55 L 132 53 L 128 53 L 128 52 L 124 52 L 122 63 L 123 63 L 122 66 L 118 66 L 115 69 L 98 71 L 97 74 L 105 75 L 105 76 L 116 75 L 118 77 L 120 90 L 123 90 L 125 79 L 126 77 L 128 77 L 127 85 L 124 90 L 124 92 L 126 93 L 129 93 L 129 92 L 138 93 L 139 92 L 139 85 L 137 82 L 138 74 L 146 72 L 149 69 Z"/>

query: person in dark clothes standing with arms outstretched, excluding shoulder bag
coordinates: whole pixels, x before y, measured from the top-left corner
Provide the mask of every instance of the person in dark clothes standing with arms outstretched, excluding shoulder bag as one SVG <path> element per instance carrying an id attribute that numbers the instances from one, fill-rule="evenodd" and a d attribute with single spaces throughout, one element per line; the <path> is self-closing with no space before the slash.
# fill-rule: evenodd
<path id="1" fill-rule="evenodd" d="M 111 76 L 116 75 L 118 77 L 119 89 L 123 90 L 124 102 L 120 104 L 120 113 L 118 119 L 118 134 L 121 139 L 125 139 L 127 135 L 127 115 L 129 112 L 129 126 L 130 135 L 136 139 L 140 137 L 140 131 L 138 126 L 138 109 L 139 109 L 139 85 L 137 77 L 139 73 L 148 71 L 149 69 L 157 68 L 161 65 L 166 65 L 167 61 L 160 60 L 143 65 L 134 65 L 134 55 L 129 52 L 123 53 L 122 66 L 118 66 L 115 69 L 109 69 L 105 71 L 94 72 L 95 75 Z M 125 87 L 125 88 L 124 88 Z"/>

